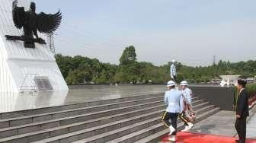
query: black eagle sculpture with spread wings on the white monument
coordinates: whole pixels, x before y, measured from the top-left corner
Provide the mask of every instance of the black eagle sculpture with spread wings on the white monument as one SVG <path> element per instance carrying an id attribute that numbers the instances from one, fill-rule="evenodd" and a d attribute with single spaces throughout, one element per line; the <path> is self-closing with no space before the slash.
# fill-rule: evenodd
<path id="1" fill-rule="evenodd" d="M 58 27 L 62 20 L 62 14 L 58 11 L 56 14 L 36 13 L 36 3 L 30 3 L 30 10 L 25 11 L 24 7 L 18 7 L 18 0 L 12 2 L 12 18 L 15 27 L 23 28 L 24 35 L 9 36 L 5 35 L 7 40 L 22 40 L 26 48 L 35 48 L 34 43 L 46 44 L 45 40 L 38 37 L 37 30 L 40 33 L 51 34 Z M 36 39 L 34 39 L 34 36 Z"/>

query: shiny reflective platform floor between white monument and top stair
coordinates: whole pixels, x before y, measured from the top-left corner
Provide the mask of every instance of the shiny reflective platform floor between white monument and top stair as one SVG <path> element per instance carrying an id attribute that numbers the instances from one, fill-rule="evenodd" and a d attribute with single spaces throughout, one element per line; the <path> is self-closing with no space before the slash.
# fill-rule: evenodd
<path id="1" fill-rule="evenodd" d="M 79 89 L 35 94 L 0 93 L 0 113 L 94 100 L 164 93 L 165 85 L 86 85 Z"/>

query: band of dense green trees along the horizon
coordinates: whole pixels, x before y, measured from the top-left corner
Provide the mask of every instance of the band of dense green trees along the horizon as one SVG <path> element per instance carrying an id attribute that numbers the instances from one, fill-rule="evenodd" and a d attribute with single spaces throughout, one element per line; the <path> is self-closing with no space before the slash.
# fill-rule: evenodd
<path id="1" fill-rule="evenodd" d="M 128 46 L 120 56 L 120 64 L 100 62 L 83 56 L 62 56 L 56 54 L 56 62 L 68 84 L 82 84 L 85 81 L 110 84 L 126 83 L 166 83 L 170 80 L 170 63 L 156 66 L 150 62 L 137 62 L 136 49 Z M 256 75 L 256 61 L 225 62 L 220 60 L 210 66 L 187 66 L 177 64 L 178 81 L 187 80 L 190 83 L 209 82 L 219 75 L 242 75 L 243 78 Z"/>

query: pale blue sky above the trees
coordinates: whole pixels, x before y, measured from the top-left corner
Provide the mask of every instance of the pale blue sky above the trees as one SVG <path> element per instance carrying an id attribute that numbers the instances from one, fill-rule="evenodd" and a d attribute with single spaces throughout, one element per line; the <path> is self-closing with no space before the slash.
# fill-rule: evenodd
<path id="1" fill-rule="evenodd" d="M 36 0 L 63 14 L 56 51 L 118 63 L 133 45 L 139 61 L 210 65 L 256 59 L 254 0 Z"/>

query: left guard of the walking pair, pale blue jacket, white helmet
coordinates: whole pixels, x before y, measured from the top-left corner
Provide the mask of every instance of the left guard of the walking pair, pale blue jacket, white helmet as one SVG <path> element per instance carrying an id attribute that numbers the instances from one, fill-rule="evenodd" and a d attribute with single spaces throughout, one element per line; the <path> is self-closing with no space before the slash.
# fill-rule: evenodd
<path id="1" fill-rule="evenodd" d="M 168 139 L 170 141 L 176 140 L 176 130 L 177 130 L 177 119 L 179 113 L 183 111 L 183 100 L 181 96 L 181 91 L 178 91 L 175 88 L 174 81 L 168 81 L 167 83 L 168 91 L 165 91 L 165 104 L 167 105 L 164 116 L 162 116 L 162 120 L 170 129 Z M 171 122 L 169 121 L 171 119 Z"/>

